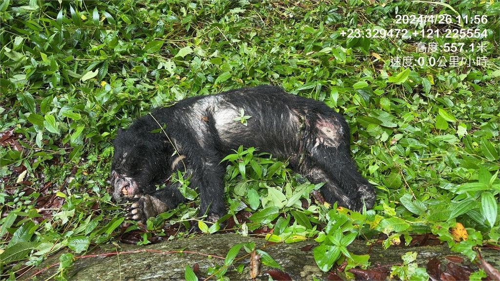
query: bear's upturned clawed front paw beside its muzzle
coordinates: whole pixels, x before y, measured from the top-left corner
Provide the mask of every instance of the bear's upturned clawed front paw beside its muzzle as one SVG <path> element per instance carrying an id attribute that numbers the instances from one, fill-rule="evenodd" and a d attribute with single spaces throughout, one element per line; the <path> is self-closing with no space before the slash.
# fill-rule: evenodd
<path id="1" fill-rule="evenodd" d="M 168 206 L 158 198 L 145 194 L 135 195 L 130 198 L 130 206 L 127 211 L 126 219 L 132 219 L 139 223 L 145 223 L 148 217 L 156 216 L 168 209 Z"/>

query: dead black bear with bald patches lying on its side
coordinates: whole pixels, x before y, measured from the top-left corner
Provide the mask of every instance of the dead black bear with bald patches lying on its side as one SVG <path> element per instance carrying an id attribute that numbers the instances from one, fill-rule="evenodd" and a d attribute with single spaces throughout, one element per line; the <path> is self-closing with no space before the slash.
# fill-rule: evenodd
<path id="1" fill-rule="evenodd" d="M 246 124 L 238 120 L 244 112 Z M 163 128 L 161 132 L 159 128 Z M 311 182 L 324 182 L 329 203 L 353 210 L 375 201 L 373 186 L 351 158 L 343 116 L 323 102 L 276 86 L 240 88 L 195 96 L 155 109 L 119 130 L 111 166 L 112 197 L 131 201 L 128 217 L 144 222 L 184 198 L 177 184 L 156 190 L 174 171 L 188 171 L 200 193 L 200 214 L 215 221 L 226 213 L 221 159 L 238 146 L 258 147 Z"/>

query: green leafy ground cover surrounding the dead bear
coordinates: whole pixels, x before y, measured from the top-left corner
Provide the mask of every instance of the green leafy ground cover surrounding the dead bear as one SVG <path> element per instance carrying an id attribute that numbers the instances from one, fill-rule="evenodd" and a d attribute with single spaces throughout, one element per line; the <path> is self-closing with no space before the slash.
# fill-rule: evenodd
<path id="1" fill-rule="evenodd" d="M 181 239 L 192 223 L 222 231 L 196 217 L 197 194 L 186 184 L 191 202 L 145 227 L 123 224 L 106 190 L 111 140 L 151 108 L 261 83 L 346 116 L 354 159 L 375 185 L 377 204 L 361 213 L 328 205 L 320 185 L 293 174 L 286 161 L 241 147 L 227 157 L 224 231 L 275 242 L 315 239 L 324 271 L 343 261 L 344 270 L 369 266 L 368 254 L 345 248 L 356 237 L 390 248 L 431 236 L 480 262 L 481 247 L 499 246 L 499 11 L 495 1 L 1 0 L 1 278 L 22 276 L 63 247 L 70 252 L 54 278 L 64 279 L 76 256 L 101 243 Z M 402 28 L 396 13 L 487 15 L 487 23 L 471 24 L 487 30 L 480 38 L 487 65 L 392 67 L 396 55 L 438 53 L 417 54 L 416 42 L 401 38 L 340 35 L 355 26 Z M 223 278 L 240 248 L 253 250 L 236 247 L 225 268 L 208 275 Z M 391 276 L 429 277 L 413 253 L 402 258 Z M 187 279 L 193 275 L 186 269 Z"/>

